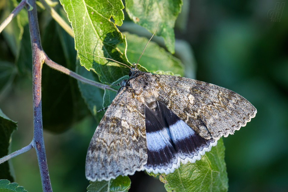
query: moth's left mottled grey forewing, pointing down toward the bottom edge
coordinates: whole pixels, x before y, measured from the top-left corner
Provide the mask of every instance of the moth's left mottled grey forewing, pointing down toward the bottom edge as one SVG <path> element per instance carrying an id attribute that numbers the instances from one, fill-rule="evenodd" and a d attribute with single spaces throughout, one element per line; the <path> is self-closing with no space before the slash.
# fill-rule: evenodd
<path id="1" fill-rule="evenodd" d="M 90 142 L 88 180 L 110 180 L 142 170 L 147 162 L 144 105 L 124 87 L 110 104 Z"/>

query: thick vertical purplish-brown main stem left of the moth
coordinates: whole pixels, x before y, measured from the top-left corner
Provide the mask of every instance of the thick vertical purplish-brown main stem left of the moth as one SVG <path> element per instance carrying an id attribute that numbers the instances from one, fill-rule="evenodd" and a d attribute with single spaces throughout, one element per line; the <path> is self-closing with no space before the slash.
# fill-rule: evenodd
<path id="1" fill-rule="evenodd" d="M 42 65 L 45 60 L 45 53 L 42 50 L 39 24 L 37 18 L 37 9 L 35 0 L 28 0 L 33 9 L 28 10 L 28 20 L 30 29 L 30 39 L 32 45 L 32 79 L 33 79 L 33 111 L 34 111 L 34 137 L 33 146 L 35 147 L 43 192 L 52 192 L 45 146 L 43 139 L 42 125 L 42 106 L 41 106 L 41 75 Z"/>

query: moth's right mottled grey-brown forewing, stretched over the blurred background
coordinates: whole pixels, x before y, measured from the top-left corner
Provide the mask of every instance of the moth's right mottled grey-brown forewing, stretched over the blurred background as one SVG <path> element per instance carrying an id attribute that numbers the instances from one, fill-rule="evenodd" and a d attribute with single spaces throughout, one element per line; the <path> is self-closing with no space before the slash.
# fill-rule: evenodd
<path id="1" fill-rule="evenodd" d="M 256 108 L 239 94 L 202 81 L 154 75 L 159 100 L 205 139 L 233 134 L 256 115 Z"/>

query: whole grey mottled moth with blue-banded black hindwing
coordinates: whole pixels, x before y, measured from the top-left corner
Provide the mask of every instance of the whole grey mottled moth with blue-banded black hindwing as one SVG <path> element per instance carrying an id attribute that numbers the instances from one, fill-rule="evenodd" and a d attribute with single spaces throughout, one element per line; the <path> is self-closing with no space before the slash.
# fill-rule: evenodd
<path id="1" fill-rule="evenodd" d="M 246 126 L 257 113 L 229 89 L 142 72 L 137 64 L 120 86 L 89 144 L 88 180 L 110 180 L 141 170 L 172 173 L 180 162 L 200 160 L 221 136 Z"/>

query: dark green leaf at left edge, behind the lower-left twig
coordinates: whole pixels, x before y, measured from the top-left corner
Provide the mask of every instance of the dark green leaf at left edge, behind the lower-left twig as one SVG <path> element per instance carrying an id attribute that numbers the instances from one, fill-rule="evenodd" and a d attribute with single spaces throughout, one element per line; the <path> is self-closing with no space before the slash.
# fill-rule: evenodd
<path id="1" fill-rule="evenodd" d="M 0 109 L 0 158 L 8 155 L 8 148 L 11 143 L 11 136 L 17 129 L 17 123 L 10 120 Z M 0 164 L 0 179 L 13 181 L 8 161 Z"/>

